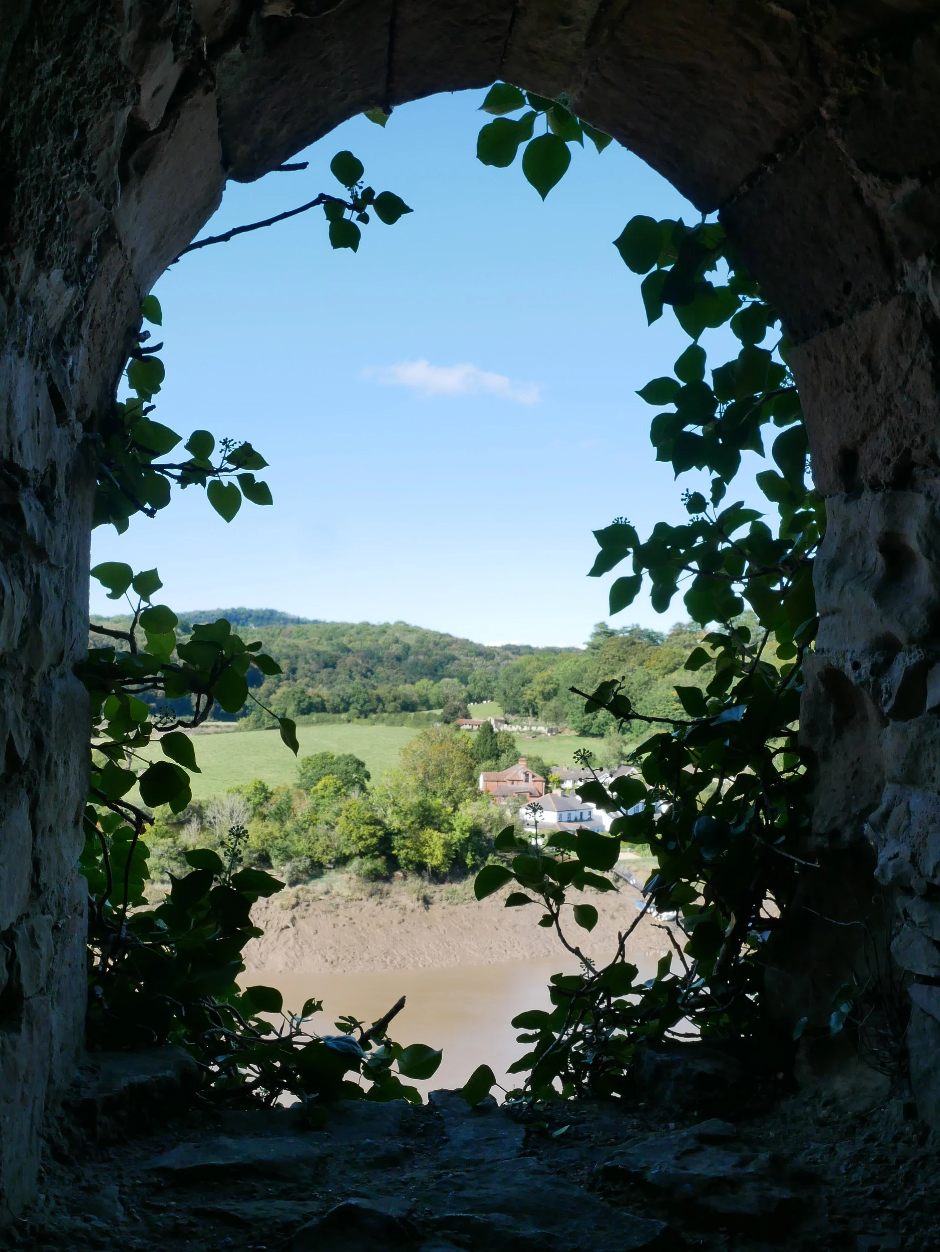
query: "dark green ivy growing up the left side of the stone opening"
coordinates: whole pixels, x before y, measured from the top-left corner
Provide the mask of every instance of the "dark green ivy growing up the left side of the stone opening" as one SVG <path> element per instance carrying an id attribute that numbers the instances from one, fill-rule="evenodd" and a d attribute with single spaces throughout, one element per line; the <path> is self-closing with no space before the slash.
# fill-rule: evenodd
<path id="1" fill-rule="evenodd" d="M 330 169 L 348 199 L 320 194 L 314 203 L 324 207 L 334 248 L 358 248 L 359 223 L 368 223 L 369 209 L 388 224 L 411 212 L 393 193 L 375 195 L 363 187 L 363 167 L 352 153 L 337 154 Z M 144 300 L 143 321 L 163 322 L 153 295 Z M 150 334 L 139 332 L 125 369 L 129 398 L 115 402 L 86 439 L 98 472 L 95 525 L 110 522 L 121 532 L 138 512 L 153 517 L 169 503 L 173 485 L 203 487 L 227 522 L 243 498 L 270 505 L 267 483 L 255 478 L 267 462 L 250 443 L 223 438 L 217 444 L 210 432 L 199 429 L 184 444 L 188 457 L 163 459 L 181 436 L 150 416 L 164 381 L 156 356 L 161 344 L 148 347 Z M 322 1008 L 318 1000 L 308 1000 L 298 1014 L 285 1013 L 275 989 L 239 987 L 243 949 L 262 934 L 252 923 L 252 905 L 284 885 L 240 865 L 242 828 L 229 831 L 223 856 L 210 849 L 189 851 L 190 871 L 170 875 L 166 899 L 154 906 L 148 901 L 149 810 L 165 804 L 183 811 L 192 800 L 192 774 L 199 771 L 185 731 L 203 724 L 217 705 L 234 714 L 249 699 L 258 704 L 249 671 L 265 676 L 280 667 L 224 618 L 197 625 L 179 639 L 176 615 L 154 601 L 163 586 L 156 570 L 135 573 L 129 565 L 109 561 L 91 573 L 109 598 L 128 600 L 130 622 L 126 630 L 91 622 L 103 642 L 76 666 L 91 706 L 80 859 L 89 886 L 89 1045 L 176 1043 L 195 1057 L 213 1097 L 274 1103 L 289 1092 L 312 1114 L 338 1098 L 419 1101 L 417 1089 L 402 1079 L 429 1078 L 441 1053 L 424 1044 L 403 1048 L 389 1038 L 388 1025 L 403 1000 L 370 1027 L 340 1018 L 340 1033 L 329 1035 L 310 1025 Z M 188 711 L 180 714 L 180 707 Z M 297 754 L 294 722 L 270 716 Z M 134 794 L 140 804 L 130 799 Z"/>

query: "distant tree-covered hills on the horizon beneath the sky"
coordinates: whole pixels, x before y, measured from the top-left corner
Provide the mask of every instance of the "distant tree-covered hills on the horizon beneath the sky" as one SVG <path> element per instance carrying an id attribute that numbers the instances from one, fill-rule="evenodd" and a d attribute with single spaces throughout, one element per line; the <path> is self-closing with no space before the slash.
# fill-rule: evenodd
<path id="1" fill-rule="evenodd" d="M 268 608 L 192 612 L 180 617 L 178 634 L 217 617 L 260 640 L 278 661 L 284 672 L 265 679 L 254 695 L 299 721 L 384 720 L 444 707 L 453 716 L 467 704 L 496 700 L 507 716 L 587 735 L 607 734 L 611 717 L 585 714 L 570 687 L 590 691 L 605 679 L 626 679 L 641 712 L 682 716 L 673 687 L 696 682 L 682 666 L 702 634 L 691 625 L 661 634 L 600 623 L 586 649 L 487 647 L 407 622 L 303 621 Z M 126 617 L 99 621 L 126 623 Z M 270 722 L 253 701 L 240 717 L 249 726 Z"/>

